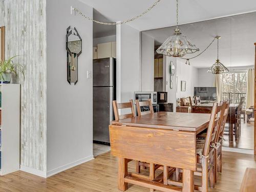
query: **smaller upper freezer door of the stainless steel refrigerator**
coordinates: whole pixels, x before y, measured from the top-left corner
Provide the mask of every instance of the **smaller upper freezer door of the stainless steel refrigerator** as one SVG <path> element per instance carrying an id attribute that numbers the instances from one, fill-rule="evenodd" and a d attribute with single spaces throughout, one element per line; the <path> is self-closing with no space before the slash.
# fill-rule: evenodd
<path id="1" fill-rule="evenodd" d="M 114 58 L 93 60 L 93 87 L 114 86 Z"/>

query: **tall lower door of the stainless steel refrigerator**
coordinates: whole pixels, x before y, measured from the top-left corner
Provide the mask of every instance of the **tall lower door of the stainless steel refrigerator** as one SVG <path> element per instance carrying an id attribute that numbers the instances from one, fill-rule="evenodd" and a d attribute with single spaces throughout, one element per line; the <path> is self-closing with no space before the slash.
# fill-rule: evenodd
<path id="1" fill-rule="evenodd" d="M 93 140 L 110 142 L 109 125 L 114 120 L 113 87 L 93 88 Z"/>

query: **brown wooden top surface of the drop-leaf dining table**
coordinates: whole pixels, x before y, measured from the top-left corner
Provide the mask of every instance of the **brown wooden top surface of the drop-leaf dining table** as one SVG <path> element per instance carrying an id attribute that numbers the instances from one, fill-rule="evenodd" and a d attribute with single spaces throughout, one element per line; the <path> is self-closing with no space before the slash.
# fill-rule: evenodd
<path id="1" fill-rule="evenodd" d="M 207 128 L 209 120 L 210 114 L 158 112 L 115 120 L 111 124 L 200 133 Z"/>

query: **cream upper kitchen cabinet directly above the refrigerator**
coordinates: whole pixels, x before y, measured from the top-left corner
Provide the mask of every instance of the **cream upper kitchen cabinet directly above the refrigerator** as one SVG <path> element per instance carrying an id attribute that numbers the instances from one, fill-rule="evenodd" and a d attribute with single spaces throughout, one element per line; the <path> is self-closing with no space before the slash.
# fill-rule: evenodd
<path id="1" fill-rule="evenodd" d="M 98 44 L 97 48 L 97 58 L 116 58 L 116 42 L 105 42 L 103 44 Z"/>

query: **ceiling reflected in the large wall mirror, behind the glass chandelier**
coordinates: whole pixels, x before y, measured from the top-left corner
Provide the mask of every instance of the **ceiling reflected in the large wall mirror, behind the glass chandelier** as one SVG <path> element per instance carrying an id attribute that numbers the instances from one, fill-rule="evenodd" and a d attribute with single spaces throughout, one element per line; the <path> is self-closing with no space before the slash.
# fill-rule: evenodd
<path id="1" fill-rule="evenodd" d="M 180 26 L 181 32 L 195 44 L 200 52 L 214 39 L 221 36 L 219 41 L 220 61 L 226 67 L 242 67 L 254 65 L 254 42 L 256 42 L 256 12 L 225 18 L 206 20 Z M 144 31 L 153 37 L 156 44 L 173 34 L 174 27 Z M 143 43 L 143 39 L 142 39 Z M 193 57 L 196 54 L 187 54 Z M 190 60 L 190 64 L 197 68 L 208 68 L 217 59 L 217 40 L 202 55 Z M 184 61 L 185 62 L 185 61 Z"/>

